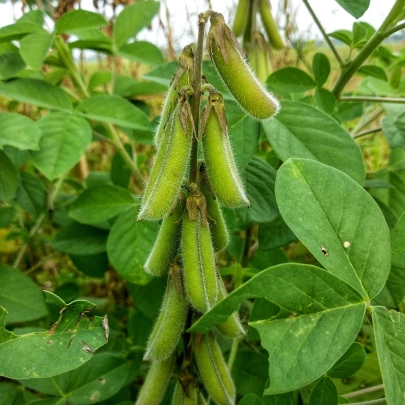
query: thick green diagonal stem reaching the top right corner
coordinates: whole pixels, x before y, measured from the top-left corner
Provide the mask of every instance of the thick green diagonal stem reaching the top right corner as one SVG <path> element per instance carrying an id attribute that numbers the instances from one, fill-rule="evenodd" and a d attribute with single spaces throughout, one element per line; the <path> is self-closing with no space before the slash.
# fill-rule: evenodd
<path id="1" fill-rule="evenodd" d="M 305 1 L 306 0 L 304 0 L 304 2 Z M 389 31 L 387 31 L 388 27 L 392 24 L 392 22 L 395 20 L 395 18 L 404 7 L 405 0 L 396 0 L 395 4 L 392 6 L 391 11 L 388 13 L 380 28 L 369 39 L 366 45 L 364 45 L 364 47 L 356 55 L 356 57 L 342 69 L 342 72 L 332 90 L 332 93 L 337 99 L 340 98 L 340 94 L 342 93 L 344 87 L 351 79 L 351 77 L 356 73 L 357 69 L 359 69 L 359 67 L 366 61 L 366 59 L 374 52 L 378 45 L 380 45 L 381 42 L 385 38 L 387 38 L 387 35 L 389 33 Z"/>

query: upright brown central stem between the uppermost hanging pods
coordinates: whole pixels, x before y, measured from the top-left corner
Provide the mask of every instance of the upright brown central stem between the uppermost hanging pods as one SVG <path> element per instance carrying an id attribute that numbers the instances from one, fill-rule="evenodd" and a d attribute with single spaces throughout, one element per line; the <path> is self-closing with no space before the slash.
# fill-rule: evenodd
<path id="1" fill-rule="evenodd" d="M 207 13 L 206 13 L 207 14 Z M 198 16 L 198 40 L 197 48 L 194 55 L 194 76 L 193 76 L 193 90 L 194 94 L 191 96 L 191 112 L 193 114 L 194 128 L 198 134 L 198 124 L 200 120 L 200 101 L 201 101 L 201 72 L 202 72 L 202 58 L 204 46 L 204 31 L 207 17 L 203 13 Z M 198 140 L 193 137 L 193 144 L 191 147 L 190 158 L 190 183 L 197 182 L 198 175 Z"/>

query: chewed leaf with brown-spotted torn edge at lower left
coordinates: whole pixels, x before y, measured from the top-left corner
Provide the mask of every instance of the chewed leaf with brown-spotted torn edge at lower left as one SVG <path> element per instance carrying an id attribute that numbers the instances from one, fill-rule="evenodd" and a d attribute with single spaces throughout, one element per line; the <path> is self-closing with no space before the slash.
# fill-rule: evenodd
<path id="1" fill-rule="evenodd" d="M 108 338 L 104 330 L 107 321 L 103 327 L 103 318 L 87 317 L 94 308 L 89 301 L 73 301 L 61 310 L 49 331 L 12 334 L 11 339 L 0 343 L 0 375 L 13 379 L 52 377 L 90 360 Z M 0 330 L 4 330 L 6 316 L 7 311 L 0 307 Z"/>

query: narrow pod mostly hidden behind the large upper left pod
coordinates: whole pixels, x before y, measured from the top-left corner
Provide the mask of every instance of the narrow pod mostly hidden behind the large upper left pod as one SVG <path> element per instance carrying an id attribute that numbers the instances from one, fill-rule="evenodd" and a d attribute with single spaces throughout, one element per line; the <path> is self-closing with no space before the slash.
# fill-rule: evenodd
<path id="1" fill-rule="evenodd" d="M 163 103 L 159 125 L 155 132 L 154 144 L 156 149 L 162 141 L 164 135 L 168 134 L 167 124 L 169 118 L 176 107 L 179 91 L 182 87 L 191 85 L 193 82 L 192 72 L 194 63 L 194 52 L 191 45 L 187 45 L 179 56 L 179 66 L 172 79 L 170 88 Z"/>

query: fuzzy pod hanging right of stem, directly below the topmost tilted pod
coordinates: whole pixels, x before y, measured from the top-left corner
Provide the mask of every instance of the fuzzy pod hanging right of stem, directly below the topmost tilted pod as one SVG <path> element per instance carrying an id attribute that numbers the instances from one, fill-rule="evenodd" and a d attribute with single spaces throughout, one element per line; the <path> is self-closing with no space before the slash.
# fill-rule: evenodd
<path id="1" fill-rule="evenodd" d="M 223 97 L 211 93 L 204 107 L 201 134 L 206 171 L 212 190 L 229 208 L 249 206 L 229 142 Z"/>

